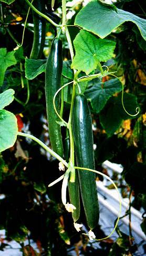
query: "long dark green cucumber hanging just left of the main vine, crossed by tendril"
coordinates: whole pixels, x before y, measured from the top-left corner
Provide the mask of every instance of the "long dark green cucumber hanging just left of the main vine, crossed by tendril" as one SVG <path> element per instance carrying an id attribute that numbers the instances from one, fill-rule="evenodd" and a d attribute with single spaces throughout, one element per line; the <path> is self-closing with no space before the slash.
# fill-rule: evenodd
<path id="1" fill-rule="evenodd" d="M 52 149 L 61 157 L 64 155 L 61 127 L 56 121 L 60 121 L 57 116 L 54 106 L 54 94 L 60 88 L 60 79 L 62 73 L 62 41 L 59 38 L 54 38 L 51 43 L 50 53 L 46 64 L 45 75 L 45 94 L 47 119 L 49 128 L 49 138 Z M 60 94 L 56 96 L 56 109 L 60 111 Z"/>

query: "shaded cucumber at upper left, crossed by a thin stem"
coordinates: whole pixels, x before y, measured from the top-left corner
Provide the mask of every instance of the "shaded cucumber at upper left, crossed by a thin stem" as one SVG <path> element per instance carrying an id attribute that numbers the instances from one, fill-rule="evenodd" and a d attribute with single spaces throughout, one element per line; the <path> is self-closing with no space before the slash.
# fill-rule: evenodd
<path id="1" fill-rule="evenodd" d="M 41 12 L 45 13 L 45 1 L 35 0 L 34 6 Z M 34 20 L 34 40 L 30 58 L 39 60 L 43 54 L 46 36 L 46 20 L 40 17 L 36 12 L 33 12 Z"/>

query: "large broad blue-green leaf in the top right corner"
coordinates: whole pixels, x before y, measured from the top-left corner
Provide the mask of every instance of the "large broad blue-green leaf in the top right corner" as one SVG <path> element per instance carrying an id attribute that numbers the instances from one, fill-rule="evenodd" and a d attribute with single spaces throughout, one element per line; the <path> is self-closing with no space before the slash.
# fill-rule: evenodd
<path id="1" fill-rule="evenodd" d="M 78 25 L 101 38 L 109 35 L 124 22 L 133 22 L 138 26 L 142 37 L 146 40 L 146 20 L 138 16 L 125 12 L 121 9 L 103 5 L 98 1 L 87 4 L 77 14 L 75 25 Z"/>

